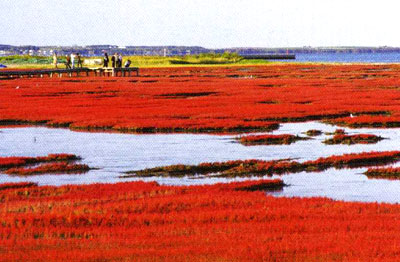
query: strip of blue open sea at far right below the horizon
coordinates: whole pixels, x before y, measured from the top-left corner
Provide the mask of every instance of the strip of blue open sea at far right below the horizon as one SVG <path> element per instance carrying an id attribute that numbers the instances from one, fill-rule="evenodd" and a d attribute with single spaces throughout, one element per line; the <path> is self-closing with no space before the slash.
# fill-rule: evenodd
<path id="1" fill-rule="evenodd" d="M 286 62 L 400 63 L 400 52 L 391 53 L 318 53 L 296 54 Z"/>

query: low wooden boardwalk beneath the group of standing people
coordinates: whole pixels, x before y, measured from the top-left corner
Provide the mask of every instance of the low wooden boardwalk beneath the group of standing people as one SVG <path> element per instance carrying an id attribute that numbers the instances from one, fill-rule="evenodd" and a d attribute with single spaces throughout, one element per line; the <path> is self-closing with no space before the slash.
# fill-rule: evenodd
<path id="1" fill-rule="evenodd" d="M 65 76 L 90 76 L 93 73 L 95 76 L 131 76 L 131 72 L 135 72 L 139 76 L 138 67 L 100 67 L 100 68 L 74 68 L 74 69 L 36 69 L 36 70 L 0 70 L 1 78 L 22 78 L 22 77 L 63 77 Z"/>

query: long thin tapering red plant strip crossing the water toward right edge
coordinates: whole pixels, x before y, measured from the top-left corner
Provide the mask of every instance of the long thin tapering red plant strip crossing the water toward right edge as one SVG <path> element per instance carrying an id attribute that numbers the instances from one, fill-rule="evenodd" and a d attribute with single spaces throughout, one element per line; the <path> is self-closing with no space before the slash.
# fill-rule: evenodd
<path id="1" fill-rule="evenodd" d="M 400 151 L 368 152 L 321 157 L 303 163 L 287 160 L 235 160 L 227 162 L 201 163 L 199 165 L 171 165 L 129 171 L 123 177 L 183 177 L 193 175 L 212 175 L 219 177 L 264 176 L 302 171 L 323 171 L 331 167 L 353 168 L 382 165 L 400 159 Z"/>

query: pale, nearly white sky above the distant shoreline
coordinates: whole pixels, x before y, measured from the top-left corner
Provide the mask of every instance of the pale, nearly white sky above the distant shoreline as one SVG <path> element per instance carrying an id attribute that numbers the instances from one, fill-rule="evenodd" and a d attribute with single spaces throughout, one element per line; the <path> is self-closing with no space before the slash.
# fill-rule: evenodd
<path id="1" fill-rule="evenodd" d="M 395 0 L 0 0 L 0 44 L 400 47 Z"/>

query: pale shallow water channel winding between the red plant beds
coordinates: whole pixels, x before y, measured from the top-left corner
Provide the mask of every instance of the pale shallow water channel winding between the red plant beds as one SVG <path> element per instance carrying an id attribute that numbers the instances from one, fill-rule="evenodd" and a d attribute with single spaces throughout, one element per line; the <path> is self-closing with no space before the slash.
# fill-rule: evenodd
<path id="1" fill-rule="evenodd" d="M 297 134 L 318 129 L 333 132 L 338 127 L 319 122 L 282 124 L 273 134 Z M 244 146 L 236 135 L 205 134 L 116 134 L 74 132 L 45 127 L 0 129 L 0 156 L 45 156 L 69 153 L 81 156 L 82 163 L 96 168 L 80 175 L 38 175 L 29 177 L 0 175 L 0 183 L 32 181 L 40 185 L 115 183 L 133 180 L 157 181 L 161 184 L 210 184 L 243 179 L 224 178 L 118 178 L 128 170 L 172 164 L 199 164 L 237 159 L 274 160 L 293 158 L 313 160 L 346 153 L 398 150 L 400 129 L 348 129 L 348 134 L 368 133 L 386 139 L 372 145 L 325 145 L 329 135 L 314 137 L 291 145 Z M 397 165 L 400 165 L 397 164 Z M 396 165 L 394 165 L 396 166 Z M 366 168 L 329 169 L 318 173 L 279 176 L 286 186 L 276 196 L 323 196 L 346 201 L 400 202 L 400 181 L 368 179 Z M 274 176 L 278 177 L 278 176 Z M 259 179 L 259 178 L 254 178 Z"/>

